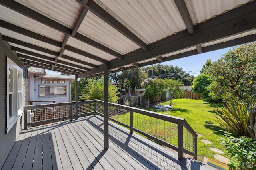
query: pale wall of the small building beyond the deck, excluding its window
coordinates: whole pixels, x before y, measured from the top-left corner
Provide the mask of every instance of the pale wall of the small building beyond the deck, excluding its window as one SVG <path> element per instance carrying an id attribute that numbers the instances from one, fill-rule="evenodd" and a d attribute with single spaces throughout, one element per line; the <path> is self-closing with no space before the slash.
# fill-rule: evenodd
<path id="1" fill-rule="evenodd" d="M 67 95 L 60 96 L 39 96 L 39 85 L 66 86 Z M 41 79 L 34 80 L 34 100 L 56 100 L 55 103 L 71 101 L 71 80 L 65 80 L 65 83 L 41 83 Z M 50 104 L 52 102 L 34 102 L 33 105 Z"/>

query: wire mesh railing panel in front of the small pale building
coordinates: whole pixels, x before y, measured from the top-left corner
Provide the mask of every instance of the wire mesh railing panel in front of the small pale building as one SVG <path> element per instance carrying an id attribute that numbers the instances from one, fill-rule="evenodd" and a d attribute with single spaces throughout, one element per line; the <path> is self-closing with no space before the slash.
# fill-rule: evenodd
<path id="1" fill-rule="evenodd" d="M 28 123 L 46 121 L 70 115 L 70 105 L 43 107 L 31 109 L 28 115 Z"/>

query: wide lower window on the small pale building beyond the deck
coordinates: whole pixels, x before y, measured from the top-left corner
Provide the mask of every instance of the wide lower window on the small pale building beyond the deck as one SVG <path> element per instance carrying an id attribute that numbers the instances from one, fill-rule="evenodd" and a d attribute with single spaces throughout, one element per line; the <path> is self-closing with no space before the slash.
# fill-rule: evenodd
<path id="1" fill-rule="evenodd" d="M 58 96 L 66 95 L 66 86 L 40 85 L 39 96 Z"/>

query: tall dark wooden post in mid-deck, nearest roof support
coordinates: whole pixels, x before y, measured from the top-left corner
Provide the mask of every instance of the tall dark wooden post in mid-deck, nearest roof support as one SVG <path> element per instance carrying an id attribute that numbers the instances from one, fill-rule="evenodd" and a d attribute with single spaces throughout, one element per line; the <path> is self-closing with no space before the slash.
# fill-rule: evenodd
<path id="1" fill-rule="evenodd" d="M 108 64 L 104 69 L 104 149 L 108 150 Z"/>

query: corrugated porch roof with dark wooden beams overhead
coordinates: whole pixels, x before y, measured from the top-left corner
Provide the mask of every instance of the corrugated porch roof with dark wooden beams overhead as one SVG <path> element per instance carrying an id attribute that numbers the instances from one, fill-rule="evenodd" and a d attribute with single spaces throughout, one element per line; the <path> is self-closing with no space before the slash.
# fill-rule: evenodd
<path id="1" fill-rule="evenodd" d="M 0 0 L 24 65 L 98 76 L 256 40 L 251 0 Z"/>

